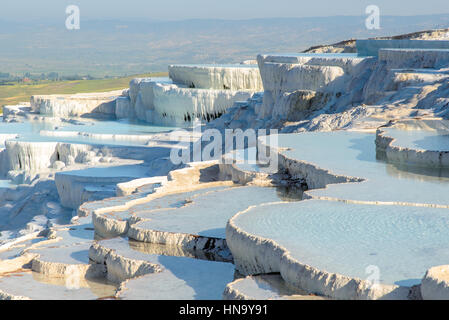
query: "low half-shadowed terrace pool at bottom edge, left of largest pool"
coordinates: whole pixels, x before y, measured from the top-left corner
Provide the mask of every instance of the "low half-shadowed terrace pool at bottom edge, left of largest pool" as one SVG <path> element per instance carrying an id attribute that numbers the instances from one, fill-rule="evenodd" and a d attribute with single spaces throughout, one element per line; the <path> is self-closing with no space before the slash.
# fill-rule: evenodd
<path id="1" fill-rule="evenodd" d="M 90 258 L 105 263 L 109 279 L 129 279 L 117 293 L 120 299 L 221 299 L 234 278 L 230 263 L 147 254 L 125 238 L 99 241 Z"/>

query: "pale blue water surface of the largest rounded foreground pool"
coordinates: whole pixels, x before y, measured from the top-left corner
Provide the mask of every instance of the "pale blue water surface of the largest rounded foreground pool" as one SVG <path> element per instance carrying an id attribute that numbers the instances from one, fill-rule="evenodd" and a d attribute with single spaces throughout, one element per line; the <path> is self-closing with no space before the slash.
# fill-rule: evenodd
<path id="1" fill-rule="evenodd" d="M 306 200 L 259 206 L 235 223 L 320 270 L 367 279 L 374 265 L 381 283 L 409 286 L 449 261 L 448 212 Z"/>

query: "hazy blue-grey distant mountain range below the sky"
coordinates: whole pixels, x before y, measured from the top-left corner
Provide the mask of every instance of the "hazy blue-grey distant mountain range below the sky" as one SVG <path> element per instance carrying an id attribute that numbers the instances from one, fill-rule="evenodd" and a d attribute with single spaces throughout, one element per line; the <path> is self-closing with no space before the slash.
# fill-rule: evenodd
<path id="1" fill-rule="evenodd" d="M 263 52 L 300 52 L 350 38 L 389 36 L 449 27 L 449 14 L 382 16 L 380 30 L 365 17 L 250 20 L 0 21 L 0 72 L 125 75 L 165 71 L 170 63 L 230 63 Z"/>

